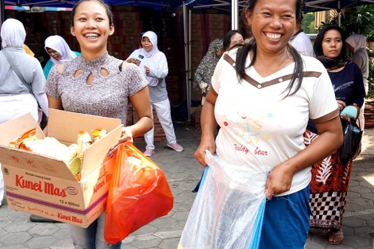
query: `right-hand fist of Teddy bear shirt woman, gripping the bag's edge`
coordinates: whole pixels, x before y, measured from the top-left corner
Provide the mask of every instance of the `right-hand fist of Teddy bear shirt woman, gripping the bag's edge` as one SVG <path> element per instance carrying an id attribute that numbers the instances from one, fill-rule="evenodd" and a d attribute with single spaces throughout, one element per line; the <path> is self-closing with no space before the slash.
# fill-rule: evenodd
<path id="1" fill-rule="evenodd" d="M 281 194 L 291 188 L 294 171 L 288 162 L 279 164 L 270 172 L 266 180 L 265 189 L 267 190 L 267 198 L 272 199 L 273 195 Z"/>

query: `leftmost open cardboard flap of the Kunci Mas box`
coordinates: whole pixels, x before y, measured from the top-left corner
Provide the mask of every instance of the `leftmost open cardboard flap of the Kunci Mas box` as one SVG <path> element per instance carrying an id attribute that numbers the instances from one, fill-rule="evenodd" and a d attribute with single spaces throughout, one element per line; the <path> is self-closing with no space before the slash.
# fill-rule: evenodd
<path id="1" fill-rule="evenodd" d="M 36 136 L 39 139 L 44 138 L 44 133 L 39 125 L 35 122 L 30 113 L 19 116 L 4 124 L 0 124 L 0 145 L 9 146 L 9 142 L 13 141 L 16 137 L 22 136 L 27 131 L 36 127 Z"/>

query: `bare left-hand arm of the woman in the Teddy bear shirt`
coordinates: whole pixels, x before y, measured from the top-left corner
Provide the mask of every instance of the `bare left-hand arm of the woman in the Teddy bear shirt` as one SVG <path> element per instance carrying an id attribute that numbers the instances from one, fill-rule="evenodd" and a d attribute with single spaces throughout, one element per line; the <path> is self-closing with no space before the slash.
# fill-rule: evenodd
<path id="1" fill-rule="evenodd" d="M 210 153 L 214 154 L 216 146 L 214 140 L 214 132 L 217 128 L 217 121 L 214 116 L 214 105 L 217 100 L 218 94 L 214 88 L 211 87 L 206 95 L 206 101 L 201 110 L 201 141 L 200 145 L 195 152 L 195 158 L 203 167 L 206 166 L 205 162 L 205 150 L 209 150 Z"/>

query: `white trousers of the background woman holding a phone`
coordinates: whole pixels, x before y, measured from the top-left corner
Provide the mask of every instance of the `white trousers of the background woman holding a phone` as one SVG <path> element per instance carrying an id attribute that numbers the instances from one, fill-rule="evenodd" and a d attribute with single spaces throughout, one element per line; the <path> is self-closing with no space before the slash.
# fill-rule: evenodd
<path id="1" fill-rule="evenodd" d="M 165 131 L 168 144 L 177 143 L 177 138 L 175 137 L 175 133 L 174 133 L 173 121 L 171 120 L 169 99 L 166 99 L 160 102 L 151 103 L 151 110 L 153 109 L 153 106 L 154 106 L 154 109 L 156 109 L 156 113 L 160 120 L 160 124 L 163 130 Z M 152 118 L 153 118 L 153 112 L 152 112 Z M 154 133 L 154 128 L 152 128 L 152 130 L 144 134 L 145 143 L 147 143 L 147 146 L 145 147 L 145 149 L 154 150 L 153 133 Z"/>

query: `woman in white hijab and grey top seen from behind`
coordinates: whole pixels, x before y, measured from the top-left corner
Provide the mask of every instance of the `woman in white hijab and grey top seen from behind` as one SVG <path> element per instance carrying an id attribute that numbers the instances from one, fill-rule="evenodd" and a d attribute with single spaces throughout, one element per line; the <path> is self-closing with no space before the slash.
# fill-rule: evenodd
<path id="1" fill-rule="evenodd" d="M 24 26 L 16 19 L 7 19 L 1 26 L 0 35 L 3 46 L 0 51 L 0 124 L 26 113 L 38 121 L 36 99 L 48 116 L 47 95 L 44 92 L 46 81 L 39 61 L 24 50 Z M 0 175 L 0 204 L 3 186 Z"/>

